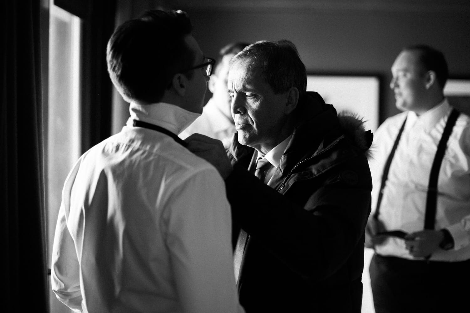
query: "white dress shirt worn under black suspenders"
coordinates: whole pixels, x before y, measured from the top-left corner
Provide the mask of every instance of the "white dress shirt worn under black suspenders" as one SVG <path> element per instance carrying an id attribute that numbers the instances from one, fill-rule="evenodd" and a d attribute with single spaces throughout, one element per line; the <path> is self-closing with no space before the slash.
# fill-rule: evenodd
<path id="1" fill-rule="evenodd" d="M 447 100 L 421 116 L 404 112 L 388 118 L 374 134 L 372 213 L 380 190 L 385 161 L 392 150 L 405 117 L 407 122 L 393 157 L 385 184 L 378 219 L 387 230 L 423 230 L 429 176 L 439 140 L 452 107 Z M 435 229 L 446 228 L 454 238 L 454 249 L 439 249 L 436 261 L 470 259 L 470 118 L 461 114 L 447 143 L 439 171 Z M 404 240 L 389 238 L 376 246 L 384 256 L 413 259 Z"/>

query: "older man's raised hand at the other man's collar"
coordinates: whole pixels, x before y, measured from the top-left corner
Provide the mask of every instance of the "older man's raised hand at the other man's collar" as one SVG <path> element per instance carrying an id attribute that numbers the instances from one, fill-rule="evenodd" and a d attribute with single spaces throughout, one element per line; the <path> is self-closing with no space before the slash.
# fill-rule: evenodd
<path id="1" fill-rule="evenodd" d="M 192 134 L 184 141 L 188 143 L 189 151 L 211 163 L 223 179 L 232 173 L 232 164 L 230 164 L 224 145 L 220 140 L 201 134 Z"/>

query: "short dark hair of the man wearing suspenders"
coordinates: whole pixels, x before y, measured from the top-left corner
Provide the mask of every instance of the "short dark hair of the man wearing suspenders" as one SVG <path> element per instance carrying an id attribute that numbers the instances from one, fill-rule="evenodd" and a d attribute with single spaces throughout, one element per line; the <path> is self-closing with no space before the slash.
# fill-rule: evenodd
<path id="1" fill-rule="evenodd" d="M 446 58 L 442 52 L 427 45 L 407 46 L 402 51 L 417 52 L 418 59 L 424 70 L 435 72 L 439 86 L 441 89 L 444 89 L 447 78 L 449 77 L 449 69 L 447 68 Z"/>

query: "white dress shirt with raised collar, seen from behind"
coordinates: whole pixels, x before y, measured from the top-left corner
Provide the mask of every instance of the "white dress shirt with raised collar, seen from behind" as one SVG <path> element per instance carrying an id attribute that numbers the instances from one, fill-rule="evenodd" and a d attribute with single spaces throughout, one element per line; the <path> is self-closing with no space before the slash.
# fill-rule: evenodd
<path id="1" fill-rule="evenodd" d="M 130 106 L 118 134 L 83 154 L 64 184 L 52 289 L 75 312 L 243 312 L 230 206 L 215 168 L 172 137 L 197 114 Z"/>

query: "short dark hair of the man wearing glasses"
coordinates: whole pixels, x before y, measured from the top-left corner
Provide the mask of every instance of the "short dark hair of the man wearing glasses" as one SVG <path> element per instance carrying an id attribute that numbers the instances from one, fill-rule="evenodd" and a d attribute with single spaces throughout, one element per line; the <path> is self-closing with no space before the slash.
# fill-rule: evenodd
<path id="1" fill-rule="evenodd" d="M 192 31 L 183 11 L 150 10 L 120 25 L 108 41 L 106 61 L 111 81 L 131 102 L 159 102 L 172 77 L 187 71 L 195 55 L 185 42 Z"/>

